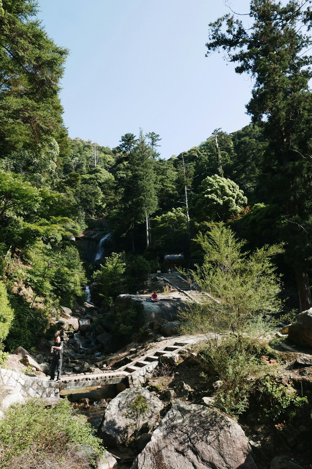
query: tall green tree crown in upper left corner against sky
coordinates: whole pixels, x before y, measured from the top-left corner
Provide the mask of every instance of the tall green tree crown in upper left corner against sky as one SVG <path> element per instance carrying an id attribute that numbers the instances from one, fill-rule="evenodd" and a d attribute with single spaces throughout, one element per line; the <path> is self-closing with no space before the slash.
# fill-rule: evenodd
<path id="1" fill-rule="evenodd" d="M 58 92 L 67 49 L 42 28 L 35 0 L 3 0 L 0 15 L 0 155 L 45 155 L 61 133 Z"/>

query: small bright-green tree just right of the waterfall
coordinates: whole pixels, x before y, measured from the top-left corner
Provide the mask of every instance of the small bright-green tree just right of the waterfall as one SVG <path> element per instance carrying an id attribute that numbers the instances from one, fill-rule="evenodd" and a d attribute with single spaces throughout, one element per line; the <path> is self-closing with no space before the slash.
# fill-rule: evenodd
<path id="1" fill-rule="evenodd" d="M 107 257 L 106 264 L 94 272 L 93 278 L 99 284 L 99 294 L 103 297 L 104 307 L 109 308 L 116 296 L 122 292 L 121 281 L 125 269 L 124 253 L 113 252 Z"/>

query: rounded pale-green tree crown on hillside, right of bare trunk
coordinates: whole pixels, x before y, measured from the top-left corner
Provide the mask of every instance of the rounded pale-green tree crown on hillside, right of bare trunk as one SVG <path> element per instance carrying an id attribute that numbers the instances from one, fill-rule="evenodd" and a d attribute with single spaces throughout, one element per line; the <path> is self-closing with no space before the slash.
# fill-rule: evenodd
<path id="1" fill-rule="evenodd" d="M 237 184 L 217 174 L 207 176 L 198 190 L 199 193 L 193 197 L 198 221 L 226 221 L 247 204 L 247 198 Z"/>

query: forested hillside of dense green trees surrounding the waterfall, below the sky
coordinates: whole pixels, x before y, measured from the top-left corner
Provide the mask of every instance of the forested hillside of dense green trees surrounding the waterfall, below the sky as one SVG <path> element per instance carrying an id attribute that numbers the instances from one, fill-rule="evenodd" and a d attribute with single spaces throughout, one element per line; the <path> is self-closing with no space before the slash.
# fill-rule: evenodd
<path id="1" fill-rule="evenodd" d="M 289 10 L 271 3 L 260 8 L 257 28 L 244 31 L 244 39 L 238 20 L 223 18 L 227 35 L 219 34 L 220 22 L 212 23 L 208 53 L 221 47 L 238 62 L 238 73 L 256 76 L 247 106 L 252 123 L 228 134 L 215 122 L 204 142 L 168 158 L 157 129 L 138 129 L 137 135 L 125 129 L 112 149 L 69 138 L 59 99 L 68 51 L 47 36 L 35 1 L 2 2 L 2 349 L 33 346 L 60 304 L 84 300 L 85 258 L 75 236 L 99 220 L 113 233 L 114 259 L 128 278 L 117 281 L 113 293 L 104 288 L 111 298 L 135 293 L 149 272 L 164 270 L 165 252 L 183 252 L 184 267 L 196 270 L 203 261 L 198 234 L 225 224 L 247 241 L 248 251 L 284 243 L 275 262 L 290 289 L 297 282 L 300 303 L 291 306 L 311 306 L 312 72 L 311 58 L 302 55 L 311 40 L 294 32 L 309 17 L 306 12 L 302 19 L 295 3 Z M 270 15 L 287 22 L 293 48 L 284 48 L 290 41 L 281 33 L 284 23 L 268 22 Z M 260 48 L 263 35 L 266 46 Z M 283 53 L 273 50 L 276 37 Z M 88 266 L 89 280 L 93 269 Z M 104 267 L 94 274 L 99 283 L 101 275 Z"/>

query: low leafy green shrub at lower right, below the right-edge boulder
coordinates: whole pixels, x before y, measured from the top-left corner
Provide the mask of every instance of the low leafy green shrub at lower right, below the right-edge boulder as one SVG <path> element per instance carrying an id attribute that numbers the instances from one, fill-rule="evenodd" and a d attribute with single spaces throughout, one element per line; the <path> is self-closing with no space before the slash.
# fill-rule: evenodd
<path id="1" fill-rule="evenodd" d="M 266 375 L 259 380 L 259 404 L 264 416 L 272 418 L 287 418 L 294 413 L 295 408 L 308 403 L 305 396 L 297 396 L 290 386 L 278 384 L 273 376 Z"/>

